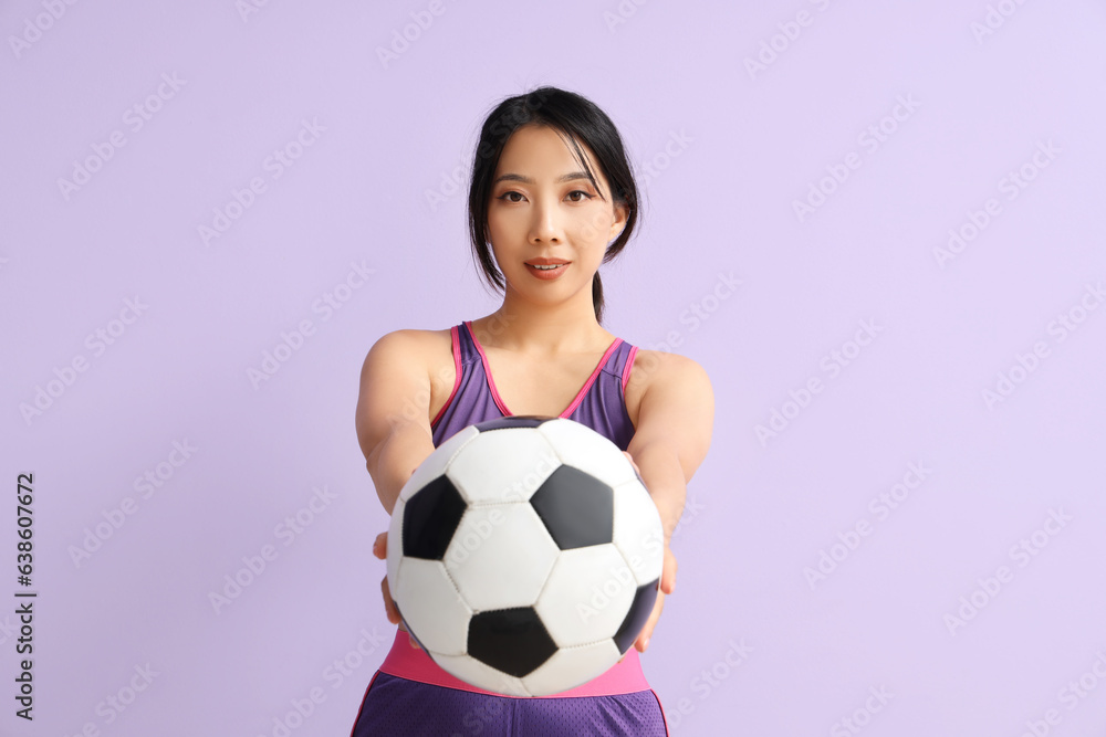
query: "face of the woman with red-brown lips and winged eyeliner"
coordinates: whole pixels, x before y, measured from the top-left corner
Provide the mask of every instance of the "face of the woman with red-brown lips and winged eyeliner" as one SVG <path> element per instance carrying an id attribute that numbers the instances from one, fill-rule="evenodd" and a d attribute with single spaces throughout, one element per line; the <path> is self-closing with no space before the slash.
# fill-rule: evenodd
<path id="1" fill-rule="evenodd" d="M 592 276 L 626 224 L 626 208 L 612 206 L 606 177 L 591 149 L 580 147 L 604 199 L 552 128 L 522 126 L 503 147 L 492 178 L 488 233 L 510 289 L 566 297 L 586 288 L 591 304 Z M 567 265 L 542 272 L 531 265 L 541 259 Z"/>

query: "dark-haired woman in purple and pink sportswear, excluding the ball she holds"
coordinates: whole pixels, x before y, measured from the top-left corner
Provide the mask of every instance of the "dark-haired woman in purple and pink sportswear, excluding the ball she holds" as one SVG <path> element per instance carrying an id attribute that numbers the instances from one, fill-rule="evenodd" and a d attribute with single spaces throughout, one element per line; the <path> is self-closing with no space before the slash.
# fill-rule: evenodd
<path id="1" fill-rule="evenodd" d="M 481 129 L 469 189 L 472 248 L 503 304 L 449 329 L 383 336 L 365 359 L 356 413 L 389 515 L 414 470 L 467 425 L 542 414 L 611 439 L 634 462 L 665 527 L 660 591 L 635 647 L 555 696 L 492 694 L 441 670 L 405 634 L 385 577 L 385 609 L 399 629 L 353 737 L 668 734 L 638 652 L 676 586 L 669 541 L 710 445 L 714 401 L 695 361 L 639 350 L 602 327 L 598 269 L 629 240 L 637 202 L 622 138 L 593 103 L 555 87 L 504 99 Z M 374 546 L 379 558 L 386 535 Z"/>

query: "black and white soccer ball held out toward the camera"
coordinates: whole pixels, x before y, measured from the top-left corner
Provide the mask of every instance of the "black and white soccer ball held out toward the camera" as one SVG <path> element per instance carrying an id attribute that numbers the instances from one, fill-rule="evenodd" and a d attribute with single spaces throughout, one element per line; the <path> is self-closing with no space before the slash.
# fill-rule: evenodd
<path id="1" fill-rule="evenodd" d="M 653 612 L 660 515 L 618 446 L 565 418 L 511 415 L 438 446 L 399 492 L 388 587 L 424 651 L 511 696 L 604 673 Z"/>

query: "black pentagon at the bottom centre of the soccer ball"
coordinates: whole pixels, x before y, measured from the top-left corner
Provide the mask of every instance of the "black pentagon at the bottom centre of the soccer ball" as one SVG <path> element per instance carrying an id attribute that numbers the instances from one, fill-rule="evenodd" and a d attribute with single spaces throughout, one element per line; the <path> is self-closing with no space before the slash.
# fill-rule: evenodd
<path id="1" fill-rule="evenodd" d="M 556 643 L 532 607 L 517 607 L 473 614 L 468 651 L 481 663 L 521 678 L 552 657 Z"/>

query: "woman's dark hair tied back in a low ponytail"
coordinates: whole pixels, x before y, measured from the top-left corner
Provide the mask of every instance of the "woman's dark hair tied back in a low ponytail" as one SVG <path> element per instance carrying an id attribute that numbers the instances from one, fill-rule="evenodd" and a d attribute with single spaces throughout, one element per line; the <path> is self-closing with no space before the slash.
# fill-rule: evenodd
<path id="1" fill-rule="evenodd" d="M 595 175 L 587 166 L 580 144 L 595 155 L 595 159 L 611 185 L 615 203 L 625 204 L 626 225 L 618 238 L 603 254 L 603 263 L 614 259 L 629 241 L 637 222 L 637 185 L 623 147 L 622 137 L 614 123 L 589 99 L 556 87 L 539 87 L 503 99 L 483 123 L 480 140 L 472 160 L 472 180 L 469 185 L 469 236 L 472 250 L 480 262 L 480 270 L 492 287 L 505 288 L 503 274 L 495 269 L 488 248 L 488 200 L 491 198 L 492 178 L 499 157 L 511 135 L 520 127 L 534 124 L 547 126 L 562 134 L 580 160 L 581 166 L 599 191 Z M 592 306 L 595 319 L 603 322 L 603 283 L 598 272 L 592 281 Z"/>

